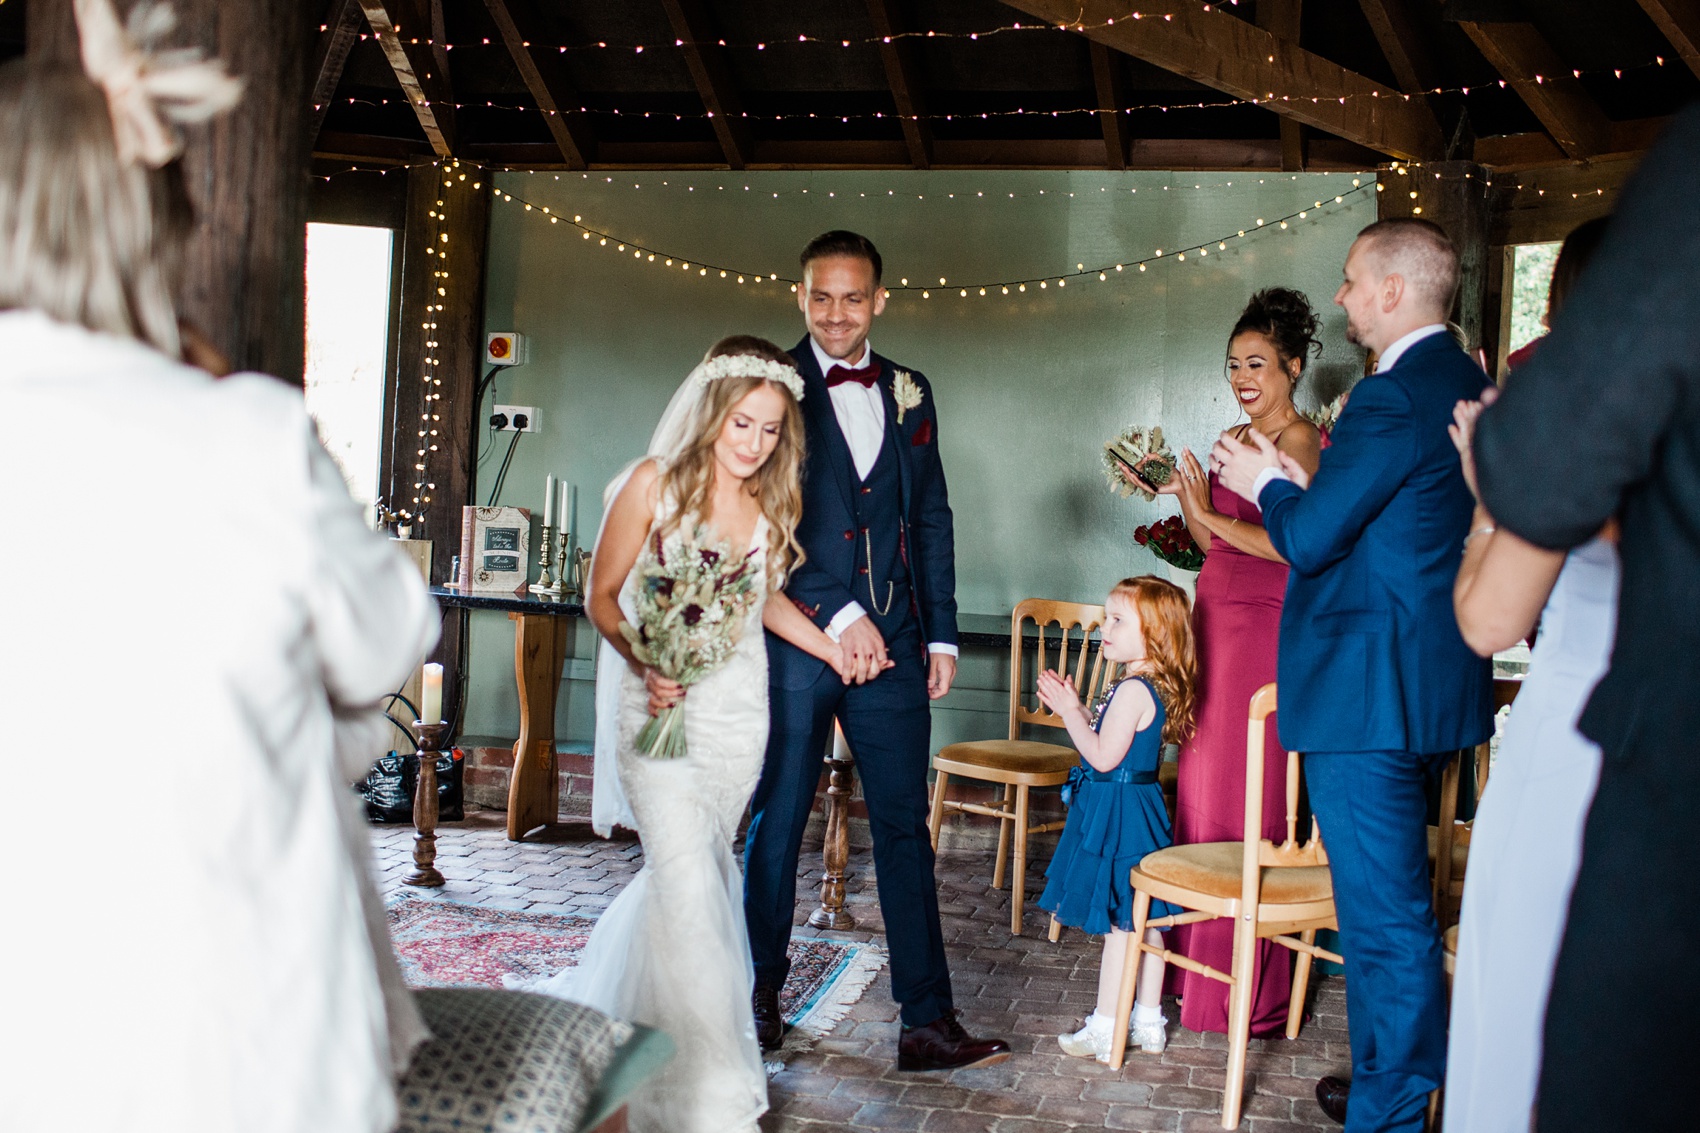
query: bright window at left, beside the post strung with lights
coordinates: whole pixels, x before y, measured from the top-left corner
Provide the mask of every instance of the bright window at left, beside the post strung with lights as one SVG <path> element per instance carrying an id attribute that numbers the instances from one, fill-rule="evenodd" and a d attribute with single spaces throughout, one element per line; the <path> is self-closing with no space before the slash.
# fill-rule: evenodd
<path id="1" fill-rule="evenodd" d="M 362 505 L 377 497 L 393 243 L 389 228 L 308 225 L 308 412 Z"/>

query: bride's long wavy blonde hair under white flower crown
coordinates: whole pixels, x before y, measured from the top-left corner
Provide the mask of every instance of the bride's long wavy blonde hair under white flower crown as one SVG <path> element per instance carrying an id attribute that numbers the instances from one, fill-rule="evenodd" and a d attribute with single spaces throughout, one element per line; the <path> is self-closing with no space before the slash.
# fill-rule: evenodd
<path id="1" fill-rule="evenodd" d="M 702 361 L 728 356 L 751 356 L 796 367 L 789 354 L 755 335 L 721 339 L 709 347 Z M 767 577 L 768 587 L 779 590 L 804 558 L 797 543 L 797 521 L 802 517 L 802 410 L 784 383 L 767 378 L 717 378 L 707 384 L 695 408 L 690 441 L 661 470 L 658 495 L 673 500 L 675 507 L 658 534 L 663 538 L 672 534 L 682 515 L 709 514 L 709 497 L 714 492 L 714 442 L 726 427 L 733 407 L 763 384 L 779 393 L 785 417 L 779 425 L 779 444 L 774 446 L 767 463 L 750 476 L 750 493 L 760 500 L 762 514 L 767 515 Z"/>

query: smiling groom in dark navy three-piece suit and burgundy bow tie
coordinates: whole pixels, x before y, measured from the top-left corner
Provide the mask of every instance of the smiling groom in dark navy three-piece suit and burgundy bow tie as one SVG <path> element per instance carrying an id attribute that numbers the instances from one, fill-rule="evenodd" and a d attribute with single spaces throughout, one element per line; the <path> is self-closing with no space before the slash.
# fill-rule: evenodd
<path id="1" fill-rule="evenodd" d="M 955 1019 L 926 830 L 928 699 L 955 677 L 955 541 L 938 415 L 926 378 L 867 345 L 886 310 L 867 236 L 830 231 L 802 250 L 797 306 L 808 464 L 797 541 L 808 553 L 785 595 L 845 652 L 845 677 L 768 635 L 772 718 L 745 840 L 745 919 L 755 958 L 755 1024 L 779 1046 L 779 988 L 790 959 L 797 851 L 833 720 L 855 752 L 874 834 L 891 994 L 903 1016 L 899 1070 L 1003 1062 L 1008 1045 Z M 887 660 L 891 669 L 886 669 Z"/>

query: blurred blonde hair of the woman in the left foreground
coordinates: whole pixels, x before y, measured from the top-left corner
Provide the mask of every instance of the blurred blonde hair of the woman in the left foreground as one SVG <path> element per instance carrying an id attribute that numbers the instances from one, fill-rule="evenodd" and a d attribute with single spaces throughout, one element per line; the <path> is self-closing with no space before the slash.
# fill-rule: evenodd
<path id="1" fill-rule="evenodd" d="M 0 66 L 0 310 L 178 357 L 190 226 L 180 167 L 121 160 L 100 87 L 66 66 Z"/>

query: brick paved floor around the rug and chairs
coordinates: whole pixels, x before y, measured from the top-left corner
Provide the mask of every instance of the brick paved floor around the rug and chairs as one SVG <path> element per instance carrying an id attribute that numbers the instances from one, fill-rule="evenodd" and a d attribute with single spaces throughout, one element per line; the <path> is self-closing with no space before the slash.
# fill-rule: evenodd
<path id="1" fill-rule="evenodd" d="M 636 842 L 604 842 L 588 827 L 581 840 L 508 842 L 500 811 L 469 813 L 437 837 L 437 866 L 456 902 L 595 915 L 638 871 Z M 411 866 L 413 830 L 374 827 L 372 845 L 386 890 Z M 816 856 L 799 871 L 799 920 L 818 891 Z M 853 932 L 797 936 L 877 939 L 872 856 L 850 857 L 847 905 Z M 1042 869 L 1042 868 L 1040 868 Z M 1034 878 L 1028 878 L 1030 881 Z M 420 891 L 413 890 L 415 893 Z M 940 854 L 938 900 L 957 1007 L 971 1031 L 1010 1041 L 1015 1056 L 998 1067 L 954 1073 L 898 1073 L 898 1009 L 881 976 L 862 1002 L 813 1051 L 796 1056 L 770 1085 L 765 1133 L 824 1130 L 920 1130 L 923 1133 L 1061 1133 L 1076 1128 L 1205 1133 L 1221 1128 L 1227 1062 L 1221 1034 L 1170 1024 L 1168 1051 L 1132 1053 L 1120 1072 L 1057 1050 L 1056 1034 L 1091 1011 L 1098 942 L 1064 932 L 1046 939 L 1046 917 L 1028 905 L 1023 936 L 1012 937 L 1008 893 L 991 888 L 989 854 Z M 1314 1017 L 1299 1039 L 1253 1039 L 1239 1128 L 1248 1133 L 1338 1130 L 1312 1090 L 1324 1073 L 1350 1070 L 1345 987 L 1314 982 Z M 1170 1002 L 1164 1014 L 1176 1017 Z"/>

